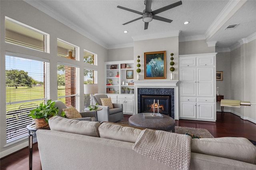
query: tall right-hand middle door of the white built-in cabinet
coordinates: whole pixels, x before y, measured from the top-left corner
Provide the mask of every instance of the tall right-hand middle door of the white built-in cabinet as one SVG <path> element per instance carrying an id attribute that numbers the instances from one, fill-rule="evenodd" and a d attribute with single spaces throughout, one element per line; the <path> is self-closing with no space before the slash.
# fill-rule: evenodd
<path id="1" fill-rule="evenodd" d="M 197 68 L 197 96 L 214 97 L 214 68 Z"/>

